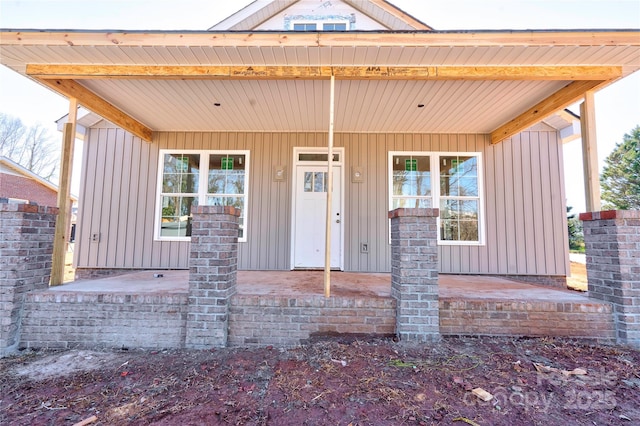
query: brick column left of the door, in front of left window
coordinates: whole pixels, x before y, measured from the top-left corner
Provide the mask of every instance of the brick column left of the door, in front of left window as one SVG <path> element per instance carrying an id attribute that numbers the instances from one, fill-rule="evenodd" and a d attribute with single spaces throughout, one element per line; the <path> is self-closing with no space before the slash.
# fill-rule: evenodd
<path id="1" fill-rule="evenodd" d="M 225 347 L 229 303 L 236 293 L 240 210 L 198 206 L 191 212 L 186 347 Z"/>

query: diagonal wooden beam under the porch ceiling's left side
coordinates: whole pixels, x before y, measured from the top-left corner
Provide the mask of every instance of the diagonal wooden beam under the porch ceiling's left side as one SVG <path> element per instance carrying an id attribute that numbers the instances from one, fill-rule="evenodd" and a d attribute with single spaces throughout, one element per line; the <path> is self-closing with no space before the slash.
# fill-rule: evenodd
<path id="1" fill-rule="evenodd" d="M 44 78 L 37 78 L 37 80 L 68 98 L 77 99 L 78 102 L 87 109 L 90 109 L 106 120 L 122 127 L 124 130 L 131 132 L 140 139 L 151 142 L 152 130 L 150 128 L 129 116 L 122 110 L 116 108 L 76 81 Z"/>

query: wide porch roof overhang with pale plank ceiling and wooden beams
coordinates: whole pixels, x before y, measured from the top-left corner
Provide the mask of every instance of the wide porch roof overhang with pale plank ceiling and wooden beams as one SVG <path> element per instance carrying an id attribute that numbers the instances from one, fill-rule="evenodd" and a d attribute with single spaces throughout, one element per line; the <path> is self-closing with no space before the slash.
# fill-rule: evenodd
<path id="1" fill-rule="evenodd" d="M 504 140 L 640 69 L 640 31 L 2 30 L 0 62 L 136 136 L 489 133 Z M 419 107 L 422 105 L 422 107 Z"/>

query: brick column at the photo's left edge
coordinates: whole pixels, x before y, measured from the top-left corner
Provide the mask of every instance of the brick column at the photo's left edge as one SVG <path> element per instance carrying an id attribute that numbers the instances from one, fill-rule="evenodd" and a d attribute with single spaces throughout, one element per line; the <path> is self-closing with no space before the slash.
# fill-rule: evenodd
<path id="1" fill-rule="evenodd" d="M 0 199 L 0 357 L 18 348 L 26 293 L 49 287 L 57 214 Z"/>

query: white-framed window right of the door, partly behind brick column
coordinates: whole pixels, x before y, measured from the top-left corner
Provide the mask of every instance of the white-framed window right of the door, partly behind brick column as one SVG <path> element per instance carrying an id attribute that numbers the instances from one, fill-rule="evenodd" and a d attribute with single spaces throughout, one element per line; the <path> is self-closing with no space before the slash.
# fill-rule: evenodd
<path id="1" fill-rule="evenodd" d="M 483 244 L 480 153 L 389 153 L 391 209 L 438 207 L 440 244 Z"/>

